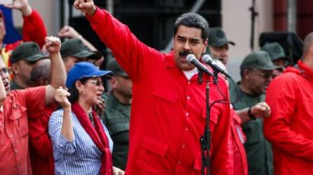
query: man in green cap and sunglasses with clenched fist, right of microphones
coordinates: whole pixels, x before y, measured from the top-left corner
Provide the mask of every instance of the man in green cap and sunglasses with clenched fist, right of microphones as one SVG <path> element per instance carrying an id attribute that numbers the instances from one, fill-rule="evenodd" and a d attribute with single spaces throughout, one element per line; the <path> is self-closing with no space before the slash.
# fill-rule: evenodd
<path id="1" fill-rule="evenodd" d="M 248 158 L 249 174 L 272 174 L 272 148 L 265 140 L 262 130 L 262 117 L 269 117 L 270 109 L 265 101 L 265 92 L 272 80 L 272 71 L 277 69 L 269 55 L 265 51 L 256 51 L 248 54 L 241 62 L 241 80 L 237 83 L 239 87 L 238 101 L 234 104 L 236 111 L 246 110 L 248 115 L 239 115 L 244 134 L 246 134 L 246 155 Z M 231 101 L 237 99 L 237 89 L 230 84 L 229 94 Z M 263 108 L 258 115 L 253 108 Z"/>

